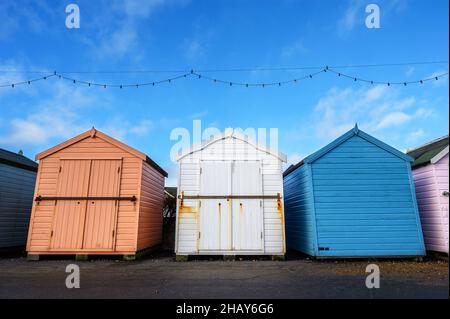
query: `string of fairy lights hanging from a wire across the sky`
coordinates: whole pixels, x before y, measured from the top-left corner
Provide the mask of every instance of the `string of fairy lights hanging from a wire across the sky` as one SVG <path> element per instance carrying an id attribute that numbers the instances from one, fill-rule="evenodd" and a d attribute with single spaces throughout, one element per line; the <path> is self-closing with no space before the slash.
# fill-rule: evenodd
<path id="1" fill-rule="evenodd" d="M 433 75 L 431 77 L 422 78 L 418 80 L 413 81 L 379 81 L 379 80 L 371 80 L 367 78 L 363 78 L 360 76 L 355 76 L 351 74 L 347 74 L 344 72 L 339 71 L 339 69 L 342 68 L 357 68 L 357 67 L 381 67 L 381 66 L 400 66 L 400 65 L 412 65 L 412 64 L 434 64 L 434 63 L 446 63 L 446 62 L 416 62 L 416 63 L 392 63 L 392 64 L 367 64 L 367 65 L 355 65 L 355 66 L 335 66 L 335 67 L 297 67 L 297 68 L 260 68 L 260 69 L 217 69 L 217 70 L 144 70 L 144 71 L 78 71 L 78 72 L 58 72 L 53 71 L 52 73 L 44 73 L 45 71 L 2 71 L 0 70 L 0 73 L 8 73 L 8 72 L 23 72 L 23 73 L 40 73 L 43 74 L 41 77 L 35 77 L 29 80 L 23 80 L 18 82 L 12 82 L 12 83 L 6 83 L 6 84 L 0 84 L 0 88 L 16 88 L 18 86 L 25 86 L 25 85 L 31 85 L 32 83 L 39 82 L 39 81 L 46 81 L 50 79 L 61 79 L 64 81 L 72 82 L 75 85 L 82 85 L 87 87 L 100 87 L 100 88 L 119 88 L 119 89 L 126 89 L 126 88 L 139 88 L 139 87 L 148 87 L 148 86 L 157 86 L 161 84 L 168 84 L 172 83 L 177 80 L 181 79 L 199 79 L 199 80 L 205 80 L 209 81 L 211 83 L 217 83 L 227 86 L 240 86 L 240 87 L 273 87 L 273 86 L 284 86 L 288 84 L 296 84 L 301 81 L 305 80 L 311 80 L 319 77 L 319 75 L 324 74 L 330 74 L 334 75 L 337 78 L 341 79 L 347 79 L 351 80 L 353 82 L 363 82 L 368 83 L 372 85 L 387 85 L 387 86 L 408 86 L 412 84 L 424 84 L 429 81 L 438 81 L 439 79 L 448 76 L 448 72 L 442 72 L 437 75 Z M 448 62 L 447 62 L 448 63 Z M 306 75 L 303 75 L 301 77 L 291 78 L 288 80 L 280 80 L 280 81 L 271 81 L 271 82 L 243 82 L 243 81 L 231 81 L 227 80 L 221 77 L 213 77 L 206 75 L 206 73 L 219 73 L 219 72 L 249 72 L 249 71 L 293 71 L 293 70 L 317 70 L 315 72 L 307 73 Z M 106 74 L 106 73 L 178 73 L 175 76 L 154 80 L 154 81 L 145 81 L 145 82 L 138 82 L 138 83 L 124 83 L 124 84 L 116 84 L 116 83 L 100 83 L 95 81 L 88 81 L 84 79 L 75 78 L 72 76 L 69 76 L 69 74 L 91 74 L 91 73 L 98 73 L 98 74 Z"/>

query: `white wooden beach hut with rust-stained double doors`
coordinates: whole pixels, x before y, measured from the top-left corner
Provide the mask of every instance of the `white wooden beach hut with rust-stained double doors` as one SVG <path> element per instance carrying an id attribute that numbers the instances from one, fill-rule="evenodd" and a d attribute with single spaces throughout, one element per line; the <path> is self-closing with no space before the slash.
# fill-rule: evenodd
<path id="1" fill-rule="evenodd" d="M 285 254 L 282 163 L 286 156 L 226 130 L 178 157 L 175 252 Z"/>

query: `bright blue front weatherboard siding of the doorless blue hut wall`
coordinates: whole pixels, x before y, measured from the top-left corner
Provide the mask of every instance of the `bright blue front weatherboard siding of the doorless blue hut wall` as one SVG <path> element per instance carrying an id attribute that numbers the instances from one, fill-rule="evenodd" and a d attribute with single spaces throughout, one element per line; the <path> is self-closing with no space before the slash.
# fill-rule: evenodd
<path id="1" fill-rule="evenodd" d="M 312 163 L 320 256 L 421 255 L 409 169 L 356 135 Z"/>

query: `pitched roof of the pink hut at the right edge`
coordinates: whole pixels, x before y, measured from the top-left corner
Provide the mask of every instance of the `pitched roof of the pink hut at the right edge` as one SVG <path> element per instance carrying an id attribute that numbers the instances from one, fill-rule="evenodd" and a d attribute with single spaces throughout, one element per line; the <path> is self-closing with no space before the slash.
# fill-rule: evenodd
<path id="1" fill-rule="evenodd" d="M 448 142 L 449 136 L 445 135 L 415 149 L 408 150 L 408 155 L 414 158 L 412 167 L 422 166 L 440 160 L 448 154 Z"/>

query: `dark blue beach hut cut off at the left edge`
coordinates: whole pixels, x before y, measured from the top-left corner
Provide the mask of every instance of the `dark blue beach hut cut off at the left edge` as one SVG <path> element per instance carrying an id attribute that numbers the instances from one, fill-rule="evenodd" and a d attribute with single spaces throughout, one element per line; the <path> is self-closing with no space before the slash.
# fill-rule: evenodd
<path id="1" fill-rule="evenodd" d="M 25 247 L 38 164 L 0 149 L 0 250 Z"/>

